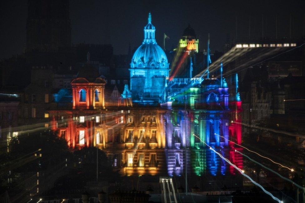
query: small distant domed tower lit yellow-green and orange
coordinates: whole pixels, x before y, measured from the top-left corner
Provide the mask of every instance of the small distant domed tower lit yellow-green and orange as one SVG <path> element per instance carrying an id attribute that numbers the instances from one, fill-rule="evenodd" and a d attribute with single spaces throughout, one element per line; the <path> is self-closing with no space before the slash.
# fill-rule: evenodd
<path id="1" fill-rule="evenodd" d="M 196 39 L 195 30 L 188 24 L 187 28 L 183 31 L 182 39 L 179 40 L 179 46 L 198 52 L 198 43 L 199 40 Z"/>

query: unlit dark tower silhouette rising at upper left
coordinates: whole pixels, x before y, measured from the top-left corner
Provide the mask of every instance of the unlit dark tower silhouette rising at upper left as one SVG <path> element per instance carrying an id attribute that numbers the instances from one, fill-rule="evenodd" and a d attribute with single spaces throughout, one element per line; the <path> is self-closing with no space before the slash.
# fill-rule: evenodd
<path id="1" fill-rule="evenodd" d="M 28 0 L 26 51 L 50 52 L 70 45 L 69 0 Z"/>

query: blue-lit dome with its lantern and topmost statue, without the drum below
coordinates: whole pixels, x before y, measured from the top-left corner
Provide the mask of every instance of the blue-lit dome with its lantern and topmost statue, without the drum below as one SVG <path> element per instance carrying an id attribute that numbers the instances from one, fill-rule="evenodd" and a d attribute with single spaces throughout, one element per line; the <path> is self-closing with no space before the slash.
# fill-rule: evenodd
<path id="1" fill-rule="evenodd" d="M 155 40 L 155 27 L 151 23 L 151 14 L 148 15 L 148 24 L 144 27 L 144 40 L 134 52 L 131 68 L 168 68 L 169 63 L 165 52 Z"/>

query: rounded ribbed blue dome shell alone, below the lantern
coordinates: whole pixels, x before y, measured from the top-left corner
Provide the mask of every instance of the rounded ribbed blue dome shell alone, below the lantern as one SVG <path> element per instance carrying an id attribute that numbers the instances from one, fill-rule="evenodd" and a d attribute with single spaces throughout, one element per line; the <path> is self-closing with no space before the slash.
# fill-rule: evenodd
<path id="1" fill-rule="evenodd" d="M 168 68 L 168 60 L 157 43 L 143 43 L 133 54 L 132 68 Z"/>

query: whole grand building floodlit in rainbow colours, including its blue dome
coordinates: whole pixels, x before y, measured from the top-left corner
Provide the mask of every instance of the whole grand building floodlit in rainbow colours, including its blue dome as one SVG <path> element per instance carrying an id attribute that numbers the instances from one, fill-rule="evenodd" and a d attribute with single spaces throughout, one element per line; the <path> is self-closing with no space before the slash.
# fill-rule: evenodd
<path id="1" fill-rule="evenodd" d="M 149 14 L 143 44 L 132 58 L 130 89 L 124 85 L 120 97 L 105 94 L 112 84 L 87 63 L 71 82 L 72 105 L 58 102 L 49 111 L 51 128 L 72 149 L 102 149 L 122 175 L 181 176 L 186 167 L 197 176 L 235 173 L 206 144 L 242 168 L 242 157 L 228 142 L 241 143 L 237 87 L 229 97 L 224 79 L 169 82 L 167 57 L 154 32 Z"/>

